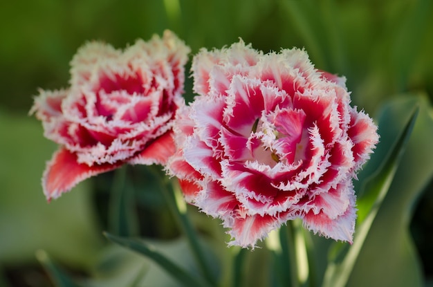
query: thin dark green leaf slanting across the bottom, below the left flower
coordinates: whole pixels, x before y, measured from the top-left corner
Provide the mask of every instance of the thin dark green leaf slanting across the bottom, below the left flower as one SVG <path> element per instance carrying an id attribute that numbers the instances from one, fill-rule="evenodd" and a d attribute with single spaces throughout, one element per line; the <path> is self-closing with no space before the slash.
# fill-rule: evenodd
<path id="1" fill-rule="evenodd" d="M 136 251 L 145 257 L 149 257 L 155 263 L 162 268 L 164 268 L 169 275 L 176 278 L 181 284 L 184 286 L 209 286 L 203 279 L 192 276 L 189 272 L 187 272 L 182 267 L 178 266 L 172 260 L 168 259 L 162 253 L 158 252 L 154 246 L 151 246 L 144 241 L 140 241 L 138 239 L 125 239 L 121 237 L 116 237 L 109 233 L 104 233 L 104 235 L 114 243 L 118 243 L 120 246 L 124 246 L 133 251 Z"/>

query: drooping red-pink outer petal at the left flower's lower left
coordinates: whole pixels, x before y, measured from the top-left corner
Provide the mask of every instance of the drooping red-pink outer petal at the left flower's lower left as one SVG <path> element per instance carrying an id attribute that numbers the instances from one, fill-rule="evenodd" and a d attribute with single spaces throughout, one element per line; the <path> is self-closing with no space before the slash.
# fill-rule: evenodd
<path id="1" fill-rule="evenodd" d="M 67 149 L 59 149 L 46 165 L 44 176 L 42 177 L 44 194 L 48 201 L 52 198 L 58 198 L 82 180 L 102 174 L 103 172 L 109 172 L 120 167 L 120 165 L 122 163 L 115 165 L 93 165 L 89 167 L 89 165 L 84 163 L 77 163 L 77 156 Z"/>

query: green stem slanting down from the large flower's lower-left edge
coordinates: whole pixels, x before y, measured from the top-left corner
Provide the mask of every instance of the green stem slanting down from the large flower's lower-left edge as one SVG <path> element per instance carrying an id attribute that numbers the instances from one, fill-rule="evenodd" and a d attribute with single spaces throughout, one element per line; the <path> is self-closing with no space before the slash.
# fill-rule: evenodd
<path id="1" fill-rule="evenodd" d="M 205 258 L 205 252 L 201 243 L 199 242 L 199 237 L 192 225 L 190 219 L 187 216 L 186 203 L 182 198 L 181 190 L 177 181 L 170 180 L 170 187 L 163 188 L 163 193 L 167 204 L 172 211 L 172 214 L 179 225 L 181 225 L 181 230 L 187 237 L 188 244 L 194 254 L 194 258 L 201 272 L 203 273 L 205 279 L 212 285 L 216 286 L 216 279 L 212 273 L 212 268 L 210 263 Z"/>

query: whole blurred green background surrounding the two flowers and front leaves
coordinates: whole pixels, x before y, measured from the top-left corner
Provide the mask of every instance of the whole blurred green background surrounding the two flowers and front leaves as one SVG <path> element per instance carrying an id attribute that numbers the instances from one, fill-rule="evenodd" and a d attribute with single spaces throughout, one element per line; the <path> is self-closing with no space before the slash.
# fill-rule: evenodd
<path id="1" fill-rule="evenodd" d="M 304 47 L 317 68 L 347 77 L 352 104 L 372 116 L 389 100 L 421 95 L 427 129 L 419 131 L 419 142 L 424 140 L 423 150 L 433 146 L 425 143 L 433 134 L 428 122 L 433 95 L 431 0 L 1 1 L 0 286 L 47 286 L 35 259 L 39 248 L 83 275 L 107 244 L 101 232 L 107 228 L 112 174 L 87 180 L 49 205 L 45 202 L 40 177 L 56 147 L 43 138 L 40 122 L 27 114 L 32 96 L 39 88 L 68 85 L 68 63 L 85 41 L 99 39 L 123 48 L 135 39 L 162 35 L 165 29 L 183 39 L 192 55 L 201 47 L 230 45 L 239 37 L 265 52 Z M 192 97 L 191 86 L 187 78 L 187 98 Z M 413 146 L 416 149 L 417 142 Z M 424 164 L 430 171 L 433 163 Z M 408 214 L 414 215 L 409 221 L 421 272 L 431 280 L 429 174 L 419 182 L 424 192 L 416 193 Z M 140 195 L 140 234 L 177 236 L 163 208 L 158 194 Z"/>

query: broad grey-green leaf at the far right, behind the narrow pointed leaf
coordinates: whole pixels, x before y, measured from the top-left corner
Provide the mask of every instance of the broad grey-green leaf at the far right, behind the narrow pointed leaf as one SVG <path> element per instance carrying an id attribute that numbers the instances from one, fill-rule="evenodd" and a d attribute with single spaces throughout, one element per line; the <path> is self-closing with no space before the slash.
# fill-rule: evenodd
<path id="1" fill-rule="evenodd" d="M 395 110 L 402 109 L 414 99 L 420 107 L 418 119 L 353 268 L 349 286 L 423 286 L 421 262 L 409 234 L 409 223 L 416 201 L 433 178 L 432 106 L 422 94 L 396 98 L 390 106 Z M 400 114 L 396 113 L 396 121 L 398 116 Z M 369 276 L 365 277 L 365 274 Z"/>

